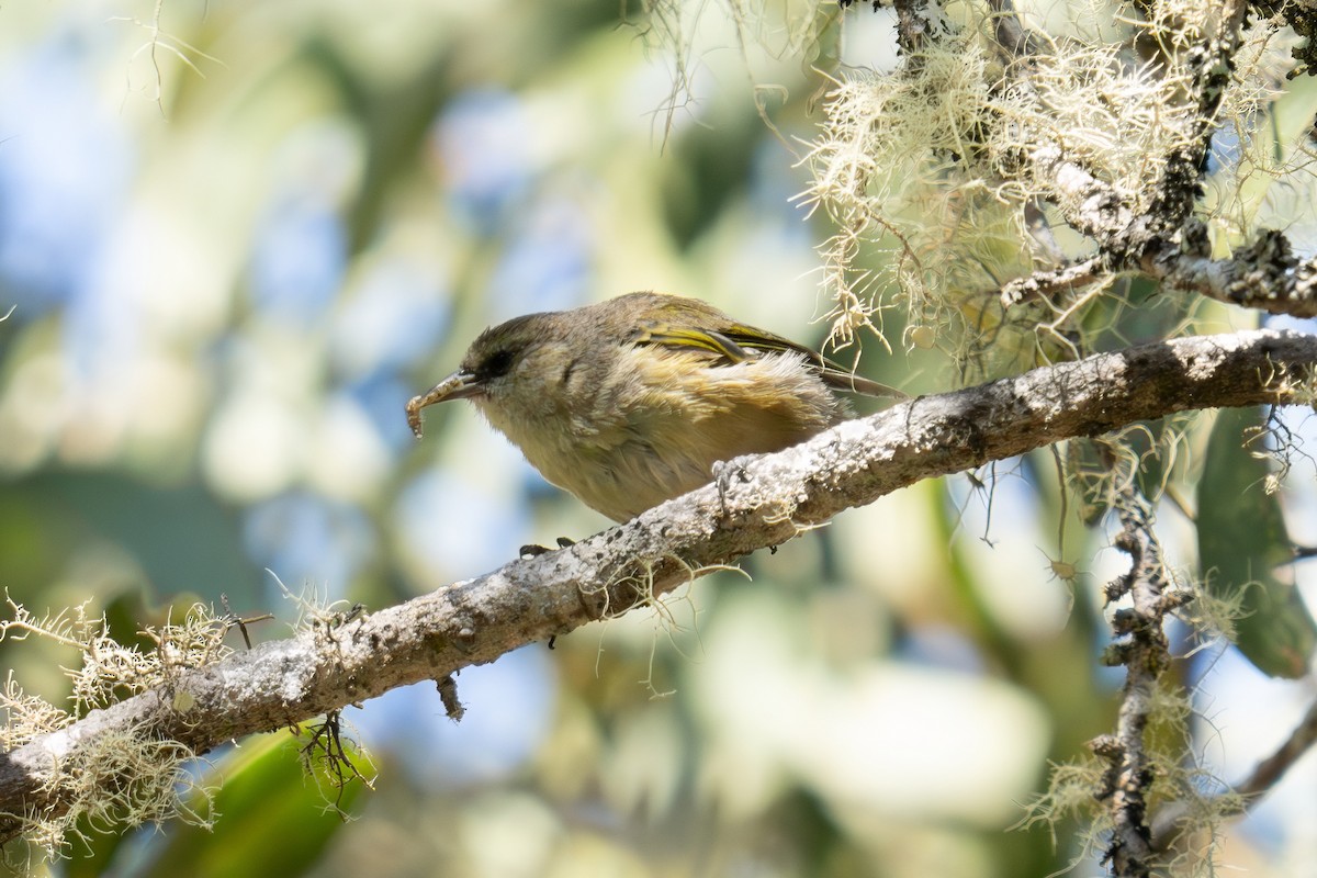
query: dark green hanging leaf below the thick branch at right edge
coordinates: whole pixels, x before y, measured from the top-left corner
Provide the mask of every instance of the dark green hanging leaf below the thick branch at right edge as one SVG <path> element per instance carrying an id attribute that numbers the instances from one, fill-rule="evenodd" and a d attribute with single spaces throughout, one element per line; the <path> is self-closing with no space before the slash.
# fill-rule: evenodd
<path id="1" fill-rule="evenodd" d="M 1210 595 L 1239 602 L 1235 645 L 1272 677 L 1303 677 L 1317 625 L 1297 590 L 1276 578 L 1293 558 L 1280 502 L 1264 490 L 1270 467 L 1245 448 L 1258 409 L 1217 415 L 1198 484 L 1198 558 Z"/>

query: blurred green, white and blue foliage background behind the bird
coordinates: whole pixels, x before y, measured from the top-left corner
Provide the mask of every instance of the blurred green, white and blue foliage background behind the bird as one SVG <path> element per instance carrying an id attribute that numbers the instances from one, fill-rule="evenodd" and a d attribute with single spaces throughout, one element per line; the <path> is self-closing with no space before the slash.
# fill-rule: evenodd
<path id="1" fill-rule="evenodd" d="M 0 586 L 37 612 L 90 602 L 124 636 L 227 600 L 274 612 L 255 633 L 279 637 L 299 612 L 284 590 L 381 607 L 606 527 L 470 408 L 431 409 L 417 444 L 403 404 L 486 325 L 631 290 L 822 341 L 831 230 L 793 200 L 799 158 L 824 74 L 893 63 L 890 18 L 751 17 L 0 8 Z M 898 315 L 888 334 L 864 371 L 955 383 L 903 353 Z M 989 475 L 990 507 L 969 478 L 921 484 L 748 558 L 752 578 L 464 671 L 460 724 L 433 686 L 348 710 L 378 770 L 340 800 L 350 820 L 267 736 L 196 766 L 228 779 L 213 831 L 95 835 L 55 870 L 1097 873 L 1073 824 L 1015 824 L 1050 763 L 1112 727 L 1094 583 L 1121 557 L 1065 519 L 1050 458 Z M 68 653 L 0 657 L 62 696 Z M 1202 683 L 1192 749 L 1223 779 L 1312 696 L 1229 650 L 1177 673 Z M 1229 827 L 1226 862 L 1317 874 L 1314 769 Z"/>

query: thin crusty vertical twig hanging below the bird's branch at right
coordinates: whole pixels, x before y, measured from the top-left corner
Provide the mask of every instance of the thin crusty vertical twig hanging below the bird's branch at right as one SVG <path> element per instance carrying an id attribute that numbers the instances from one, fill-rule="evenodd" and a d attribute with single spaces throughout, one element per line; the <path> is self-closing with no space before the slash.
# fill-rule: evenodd
<path id="1" fill-rule="evenodd" d="M 1123 665 L 1126 677 L 1115 733 L 1090 746 L 1106 762 L 1097 794 L 1106 802 L 1114 827 L 1105 862 L 1117 878 L 1144 878 L 1154 857 L 1147 819 L 1154 771 L 1144 732 L 1160 677 L 1171 662 L 1163 623 L 1189 595 L 1168 588 L 1162 546 L 1152 533 L 1152 509 L 1133 482 L 1118 495 L 1115 507 L 1122 525 L 1115 548 L 1130 555 L 1130 571 L 1108 584 L 1106 599 L 1129 596 L 1130 606 L 1115 612 L 1112 627 L 1119 640 L 1104 661 Z"/>

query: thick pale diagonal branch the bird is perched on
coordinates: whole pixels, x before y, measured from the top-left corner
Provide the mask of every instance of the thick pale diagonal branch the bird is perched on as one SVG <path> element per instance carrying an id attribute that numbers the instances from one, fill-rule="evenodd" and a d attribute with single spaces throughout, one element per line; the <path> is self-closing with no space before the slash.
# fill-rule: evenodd
<path id="1" fill-rule="evenodd" d="M 205 753 L 651 603 L 712 565 L 778 545 L 922 479 L 1187 409 L 1312 404 L 1317 336 L 1180 338 L 925 396 L 778 454 L 569 549 L 519 559 L 341 625 L 316 625 L 94 711 L 0 756 L 0 840 L 16 815 L 70 807 L 61 774 L 99 738 L 133 733 Z"/>

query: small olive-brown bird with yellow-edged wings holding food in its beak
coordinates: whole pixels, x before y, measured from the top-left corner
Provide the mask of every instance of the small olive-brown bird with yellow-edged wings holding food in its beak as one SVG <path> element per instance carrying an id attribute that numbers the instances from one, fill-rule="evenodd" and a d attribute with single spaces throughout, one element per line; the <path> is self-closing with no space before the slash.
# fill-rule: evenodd
<path id="1" fill-rule="evenodd" d="M 407 403 L 469 399 L 553 484 L 627 521 L 851 413 L 834 390 L 903 398 L 698 299 L 632 292 L 491 326 Z"/>

